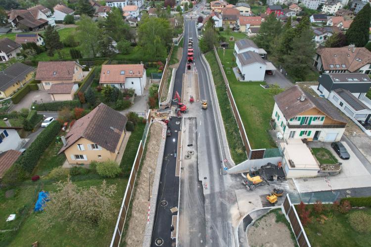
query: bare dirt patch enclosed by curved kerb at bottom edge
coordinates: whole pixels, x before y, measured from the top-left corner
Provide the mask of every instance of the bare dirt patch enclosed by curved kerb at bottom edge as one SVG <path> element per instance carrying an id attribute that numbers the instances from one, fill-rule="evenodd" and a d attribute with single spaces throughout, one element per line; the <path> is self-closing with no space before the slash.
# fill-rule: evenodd
<path id="1" fill-rule="evenodd" d="M 276 214 L 271 212 L 263 216 L 248 229 L 249 246 L 294 247 L 291 229 L 284 223 L 276 222 Z"/>

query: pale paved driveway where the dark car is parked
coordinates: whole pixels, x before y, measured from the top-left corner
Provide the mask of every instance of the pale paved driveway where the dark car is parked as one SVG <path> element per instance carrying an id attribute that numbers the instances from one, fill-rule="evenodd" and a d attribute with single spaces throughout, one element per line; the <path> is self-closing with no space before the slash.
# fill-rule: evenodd
<path id="1" fill-rule="evenodd" d="M 350 154 L 349 160 L 341 160 L 333 151 L 330 143 L 323 143 L 323 147 L 342 163 L 341 172 L 335 176 L 314 177 L 314 178 L 294 178 L 298 192 L 342 190 L 348 188 L 362 188 L 371 186 L 371 174 L 362 164 L 360 159 L 344 141 L 341 142 Z M 327 179 L 327 181 L 326 181 Z"/>

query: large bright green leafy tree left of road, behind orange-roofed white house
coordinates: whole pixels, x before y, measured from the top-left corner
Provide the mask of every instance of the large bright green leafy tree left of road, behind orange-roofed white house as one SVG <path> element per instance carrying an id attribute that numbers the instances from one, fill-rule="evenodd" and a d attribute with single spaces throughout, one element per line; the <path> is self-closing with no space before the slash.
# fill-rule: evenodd
<path id="1" fill-rule="evenodd" d="M 167 44 L 171 42 L 172 33 L 168 20 L 144 17 L 138 28 L 139 46 L 146 56 L 165 60 L 168 55 Z"/>

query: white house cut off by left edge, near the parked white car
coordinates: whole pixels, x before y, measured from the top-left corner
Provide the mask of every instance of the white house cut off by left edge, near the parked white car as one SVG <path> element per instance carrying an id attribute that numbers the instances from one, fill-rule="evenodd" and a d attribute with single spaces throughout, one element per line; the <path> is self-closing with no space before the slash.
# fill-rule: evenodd
<path id="1" fill-rule="evenodd" d="M 0 153 L 21 149 L 22 141 L 17 132 L 20 127 L 0 127 Z"/>

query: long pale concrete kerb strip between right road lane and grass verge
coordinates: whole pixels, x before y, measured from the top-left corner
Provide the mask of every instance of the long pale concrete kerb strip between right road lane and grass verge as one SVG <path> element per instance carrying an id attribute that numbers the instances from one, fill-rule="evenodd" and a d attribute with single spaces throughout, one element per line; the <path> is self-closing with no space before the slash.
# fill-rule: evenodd
<path id="1" fill-rule="evenodd" d="M 218 118 L 218 121 L 217 122 L 218 122 L 218 125 L 219 125 L 220 135 L 222 136 L 221 145 L 223 147 L 223 151 L 224 151 L 224 154 L 225 154 L 226 159 L 227 159 L 227 162 L 224 162 L 224 161 L 223 162 L 224 162 L 224 164 L 229 165 L 231 167 L 231 166 L 234 166 L 235 163 L 232 160 L 232 156 L 231 156 L 231 152 L 230 152 L 230 147 L 228 145 L 226 129 L 224 128 L 224 122 L 223 122 L 222 114 L 221 114 L 221 111 L 220 111 L 220 105 L 219 105 L 218 96 L 216 94 L 216 89 L 215 89 L 213 75 L 211 73 L 210 65 L 207 62 L 204 54 L 201 54 L 201 57 L 204 60 L 204 63 L 206 64 L 207 73 L 209 74 L 209 78 L 210 78 L 210 81 L 211 81 L 210 84 L 211 84 L 211 91 L 212 91 L 212 94 L 213 94 L 213 100 L 216 103 L 216 107 L 215 107 L 216 108 L 216 113 L 215 113 L 215 116 Z M 220 138 L 219 135 L 218 135 L 218 138 Z"/>

